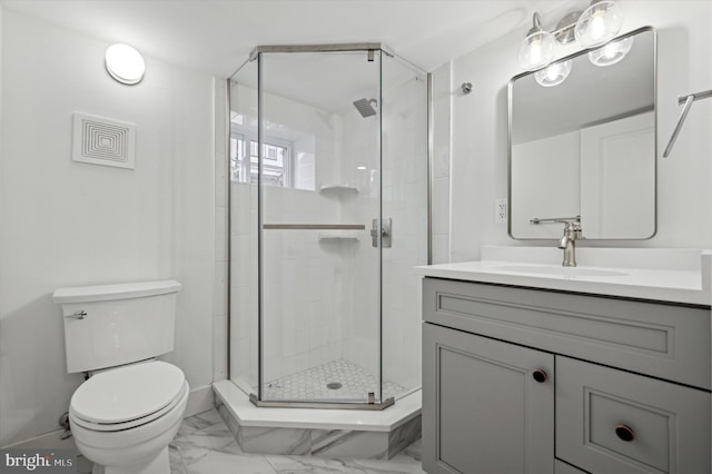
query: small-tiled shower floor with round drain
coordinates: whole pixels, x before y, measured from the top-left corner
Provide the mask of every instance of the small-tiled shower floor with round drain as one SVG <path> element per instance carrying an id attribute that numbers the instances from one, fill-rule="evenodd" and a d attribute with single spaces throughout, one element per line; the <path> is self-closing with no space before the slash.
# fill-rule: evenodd
<path id="1" fill-rule="evenodd" d="M 329 386 L 338 388 L 329 388 Z M 377 387 L 374 374 L 359 365 L 338 358 L 267 382 L 263 399 L 366 402 L 368 392 L 377 393 Z M 390 381 L 384 381 L 384 399 L 403 392 L 405 392 L 405 387 Z"/>

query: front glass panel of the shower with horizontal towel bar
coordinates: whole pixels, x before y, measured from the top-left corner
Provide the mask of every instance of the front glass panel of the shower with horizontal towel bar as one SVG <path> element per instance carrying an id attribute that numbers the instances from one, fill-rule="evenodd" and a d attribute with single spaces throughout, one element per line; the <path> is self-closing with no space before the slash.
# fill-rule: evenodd
<path id="1" fill-rule="evenodd" d="M 260 120 L 241 140 L 258 182 L 263 402 L 383 398 L 380 59 L 259 53 Z"/>

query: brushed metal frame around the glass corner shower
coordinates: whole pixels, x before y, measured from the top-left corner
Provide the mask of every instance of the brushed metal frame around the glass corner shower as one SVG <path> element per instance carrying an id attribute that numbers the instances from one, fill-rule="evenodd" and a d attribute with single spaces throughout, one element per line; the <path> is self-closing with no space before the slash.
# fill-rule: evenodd
<path id="1" fill-rule="evenodd" d="M 399 61 L 405 62 L 406 65 L 408 65 L 411 68 L 416 69 L 418 71 L 422 71 L 424 75 L 427 76 L 427 98 L 426 98 L 426 107 L 427 107 L 427 137 L 426 137 L 426 148 L 427 148 L 427 263 L 428 265 L 432 264 L 433 260 L 433 209 L 432 209 L 432 200 L 433 200 L 433 179 L 434 179 L 434 170 L 433 170 L 433 75 L 431 72 L 427 72 L 425 70 L 423 70 L 421 67 L 414 65 L 413 62 L 396 56 L 393 50 L 390 48 L 388 48 L 387 46 L 379 43 L 379 42 L 364 42 L 364 43 L 343 43 L 343 45 L 274 45 L 274 46 L 258 46 L 256 48 L 253 49 L 253 51 L 249 55 L 249 58 L 247 59 L 247 61 L 245 61 L 244 63 L 241 63 L 239 66 L 239 68 L 237 68 L 231 75 L 230 77 L 235 76 L 235 73 L 237 73 L 237 71 L 239 71 L 245 65 L 247 65 L 248 62 L 253 62 L 255 60 L 257 60 L 259 58 L 259 56 L 261 53 L 274 53 L 274 52 L 281 52 L 281 53 L 289 53 L 289 52 L 349 52 L 349 51 L 363 51 L 363 52 L 367 52 L 368 53 L 368 60 L 373 60 L 374 59 L 374 53 L 375 51 L 380 51 L 382 53 L 390 57 L 390 58 L 397 58 Z M 257 65 L 257 82 L 258 85 L 261 85 L 261 63 L 258 62 Z M 383 85 L 379 85 L 379 90 L 382 89 Z M 258 117 L 258 127 L 257 127 L 257 141 L 259 144 L 263 142 L 263 124 L 261 124 L 261 117 L 263 117 L 263 100 L 260 97 L 260 90 L 259 90 L 259 86 L 258 86 L 258 101 L 257 101 L 257 117 Z M 230 147 L 230 120 L 229 120 L 229 115 L 230 115 L 230 87 L 229 87 L 229 79 L 226 81 L 226 150 L 229 150 Z M 379 129 L 383 130 L 383 126 L 379 126 Z M 258 152 L 261 156 L 261 147 L 258 147 Z M 264 221 L 263 221 L 263 184 L 261 184 L 261 159 L 259 160 L 260 166 L 259 166 L 259 175 L 260 178 L 257 180 L 257 192 L 258 192 L 258 199 L 257 199 L 257 226 L 258 226 L 258 239 L 257 239 L 257 246 L 258 246 L 258 282 L 257 282 L 257 287 L 258 287 L 258 303 L 257 303 L 257 308 L 258 308 L 258 319 L 259 319 L 259 324 L 258 324 L 258 394 L 254 394 L 251 393 L 249 395 L 249 399 L 250 402 L 258 406 L 258 407 L 281 407 L 281 408 L 320 408 L 320 409 L 365 409 L 365 411 L 383 411 L 392 405 L 395 404 L 395 398 L 390 397 L 387 398 L 385 401 L 382 401 L 379 403 L 375 403 L 375 401 L 369 396 L 369 401 L 362 403 L 362 402 L 307 402 L 307 401 L 299 401 L 299 402 L 286 402 L 286 401 L 263 401 L 260 399 L 260 395 L 261 395 L 261 391 L 263 391 L 263 385 L 264 385 L 264 358 L 263 358 L 263 335 L 264 335 L 264 318 L 263 318 L 263 308 L 264 308 L 264 302 L 263 302 L 263 297 L 264 297 L 264 288 L 263 288 L 263 258 L 261 258 L 261 246 L 263 246 L 263 228 L 264 228 Z M 229 229 L 231 228 L 231 218 L 233 218 L 233 213 L 231 213 L 231 207 L 233 207 L 233 199 L 231 199 L 231 192 L 233 192 L 233 187 L 229 186 L 230 184 L 230 160 L 227 159 L 226 160 L 227 164 L 227 179 L 228 179 L 228 187 L 227 187 L 227 204 L 228 204 L 228 209 L 227 209 L 227 228 L 228 228 L 228 233 Z M 380 187 L 383 187 L 383 184 L 379 185 Z M 383 204 L 382 204 L 383 205 Z M 380 240 L 380 238 L 379 238 Z M 380 249 L 380 245 L 378 246 L 378 248 Z M 226 280 L 226 285 L 228 290 L 227 293 L 227 315 L 228 317 L 227 319 L 227 376 L 228 378 L 230 377 L 230 352 L 231 352 L 231 346 L 230 346 L 230 313 L 231 313 L 231 295 L 230 295 L 230 288 L 231 288 L 231 271 L 230 271 L 230 266 L 231 266 L 231 248 L 230 245 L 227 246 L 227 261 L 228 261 L 228 271 L 227 271 L 227 280 Z M 380 256 L 380 265 L 383 264 L 383 256 Z M 379 304 L 380 305 L 380 304 Z M 383 307 L 380 307 L 380 316 L 383 316 Z M 380 324 L 383 325 L 383 318 L 380 318 Z M 383 332 L 382 332 L 383 334 Z M 382 342 L 383 344 L 383 342 Z M 382 354 L 380 354 L 380 384 L 383 384 L 383 348 L 382 348 Z M 382 394 L 383 394 L 383 385 L 382 385 Z"/>

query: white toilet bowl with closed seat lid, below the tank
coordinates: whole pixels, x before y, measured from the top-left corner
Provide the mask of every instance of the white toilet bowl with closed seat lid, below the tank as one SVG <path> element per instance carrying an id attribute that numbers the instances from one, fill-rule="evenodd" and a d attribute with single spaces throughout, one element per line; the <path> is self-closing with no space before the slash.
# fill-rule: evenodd
<path id="1" fill-rule="evenodd" d="M 75 392 L 69 421 L 95 474 L 169 472 L 168 443 L 188 401 L 182 372 L 147 362 L 102 372 Z"/>

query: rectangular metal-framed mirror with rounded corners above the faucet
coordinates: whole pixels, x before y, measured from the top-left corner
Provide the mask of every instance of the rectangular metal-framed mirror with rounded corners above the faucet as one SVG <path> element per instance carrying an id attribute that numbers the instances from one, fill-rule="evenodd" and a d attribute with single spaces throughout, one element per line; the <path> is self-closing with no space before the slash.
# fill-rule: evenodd
<path id="1" fill-rule="evenodd" d="M 642 28 L 510 81 L 512 238 L 655 234 L 655 47 Z"/>

